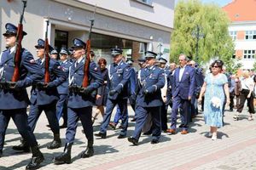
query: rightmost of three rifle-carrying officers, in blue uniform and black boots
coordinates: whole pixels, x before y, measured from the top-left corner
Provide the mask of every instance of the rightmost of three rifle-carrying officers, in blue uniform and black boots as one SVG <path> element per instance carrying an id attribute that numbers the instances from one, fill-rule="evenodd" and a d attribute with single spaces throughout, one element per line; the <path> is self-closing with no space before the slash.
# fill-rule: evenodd
<path id="1" fill-rule="evenodd" d="M 88 140 L 87 148 L 81 154 L 82 158 L 93 156 L 93 127 L 92 127 L 92 106 L 94 99 L 96 98 L 96 89 L 102 86 L 103 78 L 101 72 L 96 69 L 96 64 L 90 62 L 89 71 L 89 86 L 87 88 L 81 88 L 84 80 L 84 54 L 86 44 L 75 38 L 73 40 L 73 57 L 75 63 L 70 67 L 69 71 L 69 98 L 67 109 L 67 131 L 66 131 L 66 145 L 64 152 L 61 155 L 54 158 L 55 164 L 70 163 L 71 162 L 71 148 L 73 145 L 74 137 L 76 134 L 76 128 L 78 126 L 79 119 L 82 122 L 85 136 Z M 93 82 L 91 80 L 93 79 Z"/>

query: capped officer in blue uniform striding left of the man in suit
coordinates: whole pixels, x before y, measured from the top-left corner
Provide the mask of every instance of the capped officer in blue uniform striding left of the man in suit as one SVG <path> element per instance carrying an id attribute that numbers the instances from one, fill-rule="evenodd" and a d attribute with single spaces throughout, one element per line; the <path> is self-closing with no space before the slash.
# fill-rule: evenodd
<path id="1" fill-rule="evenodd" d="M 128 141 L 135 145 L 138 144 L 138 139 L 148 114 L 151 114 L 153 118 L 153 139 L 151 144 L 157 144 L 160 139 L 160 106 L 163 105 L 160 88 L 165 85 L 165 76 L 164 71 L 154 65 L 156 55 L 151 51 L 146 52 L 147 66 L 138 74 L 139 93 L 136 100 L 136 124 L 132 137 L 128 138 Z"/>

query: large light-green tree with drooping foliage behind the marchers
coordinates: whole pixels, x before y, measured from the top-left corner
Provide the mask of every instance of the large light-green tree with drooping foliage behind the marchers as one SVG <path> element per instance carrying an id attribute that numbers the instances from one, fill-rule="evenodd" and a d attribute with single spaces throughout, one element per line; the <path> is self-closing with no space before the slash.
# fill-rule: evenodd
<path id="1" fill-rule="evenodd" d="M 187 54 L 198 59 L 200 64 L 212 58 L 223 59 L 230 70 L 236 61 L 231 59 L 234 43 L 229 35 L 230 20 L 227 14 L 215 4 L 203 4 L 199 0 L 180 1 L 175 8 L 174 31 L 171 42 L 171 61 L 177 62 L 178 54 Z M 198 41 L 196 55 L 196 28 L 201 38 Z"/>

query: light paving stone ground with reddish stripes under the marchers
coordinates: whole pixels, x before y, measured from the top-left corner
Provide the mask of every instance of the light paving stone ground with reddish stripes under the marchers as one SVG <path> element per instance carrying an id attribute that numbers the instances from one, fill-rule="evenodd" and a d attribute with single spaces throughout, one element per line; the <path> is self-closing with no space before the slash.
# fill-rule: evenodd
<path id="1" fill-rule="evenodd" d="M 244 109 L 247 111 L 246 109 Z M 169 111 L 170 112 L 170 111 Z M 129 113 L 134 115 L 129 106 Z M 226 111 L 225 126 L 218 129 L 218 139 L 212 141 L 207 138 L 209 127 L 204 124 L 203 115 L 196 116 L 190 124 L 189 133 L 182 135 L 167 135 L 162 133 L 159 144 L 150 144 L 151 137 L 142 135 L 139 145 L 133 146 L 127 139 L 117 139 L 119 129 L 108 130 L 107 139 L 95 138 L 95 156 L 79 158 L 79 154 L 86 148 L 86 139 L 81 133 L 79 122 L 76 140 L 73 144 L 72 163 L 54 165 L 53 156 L 64 149 L 48 150 L 46 145 L 53 139 L 52 133 L 46 125 L 46 116 L 42 114 L 35 130 L 36 138 L 44 153 L 45 161 L 42 170 L 105 170 L 105 169 L 146 169 L 146 170 L 256 170 L 256 120 L 247 121 L 247 113 L 243 112 L 241 121 L 234 122 L 235 112 Z M 170 114 L 169 114 L 170 115 Z M 98 116 L 94 130 L 98 132 L 102 117 Z M 256 116 L 254 116 L 256 118 Z M 131 119 L 130 119 L 131 120 Z M 168 123 L 170 126 L 170 123 Z M 134 122 L 129 122 L 128 136 L 134 130 Z M 65 144 L 66 129 L 61 129 L 62 145 Z M 12 121 L 7 130 L 3 157 L 0 158 L 0 170 L 25 169 L 31 154 L 19 154 L 12 150 L 12 146 L 19 144 L 20 135 Z"/>

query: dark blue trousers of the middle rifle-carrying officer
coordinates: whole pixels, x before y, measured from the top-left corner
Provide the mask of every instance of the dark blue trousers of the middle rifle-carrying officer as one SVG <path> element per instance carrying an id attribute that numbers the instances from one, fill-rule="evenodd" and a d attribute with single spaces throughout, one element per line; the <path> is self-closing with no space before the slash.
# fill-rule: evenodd
<path id="1" fill-rule="evenodd" d="M 32 128 L 32 132 L 35 130 L 35 127 L 38 122 L 38 118 L 41 115 L 42 111 L 45 112 L 51 131 L 54 134 L 60 134 L 59 122 L 56 116 L 55 102 L 49 105 L 31 105 L 30 106 L 30 111 L 28 115 L 28 125 Z"/>

